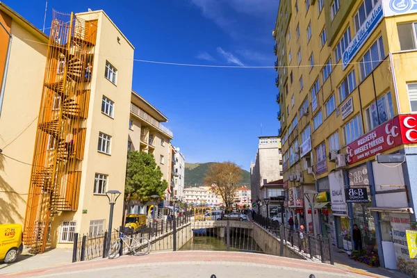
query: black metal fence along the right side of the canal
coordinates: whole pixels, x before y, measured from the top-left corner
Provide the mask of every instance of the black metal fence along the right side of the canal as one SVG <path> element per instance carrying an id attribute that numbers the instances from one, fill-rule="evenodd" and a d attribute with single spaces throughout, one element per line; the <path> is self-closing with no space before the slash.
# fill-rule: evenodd
<path id="1" fill-rule="evenodd" d="M 253 220 L 263 229 L 270 231 L 273 236 L 281 239 L 281 243 L 298 252 L 298 254 L 309 259 L 320 260 L 322 263 L 334 263 L 332 237 L 330 235 L 326 237 L 322 235 L 314 236 L 306 231 L 296 231 L 293 227 L 265 218 L 262 215 L 254 215 Z"/>

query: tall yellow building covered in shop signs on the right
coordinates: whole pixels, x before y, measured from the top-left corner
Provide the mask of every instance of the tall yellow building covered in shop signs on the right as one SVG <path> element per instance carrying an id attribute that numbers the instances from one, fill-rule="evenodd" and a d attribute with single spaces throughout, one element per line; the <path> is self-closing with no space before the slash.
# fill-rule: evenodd
<path id="1" fill-rule="evenodd" d="M 288 213 L 407 272 L 416 222 L 417 1 L 280 1 L 277 55 Z M 304 197 L 317 190 L 314 213 Z M 315 215 L 312 221 L 311 215 Z"/>

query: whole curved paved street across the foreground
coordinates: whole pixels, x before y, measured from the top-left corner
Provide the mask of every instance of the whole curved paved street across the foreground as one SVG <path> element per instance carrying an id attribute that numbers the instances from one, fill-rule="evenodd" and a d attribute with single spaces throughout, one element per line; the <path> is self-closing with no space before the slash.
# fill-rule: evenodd
<path id="1" fill-rule="evenodd" d="M 333 265 L 242 252 L 163 252 L 69 263 L 3 277 L 373 277 Z M 0 276 L 1 277 L 1 276 Z"/>

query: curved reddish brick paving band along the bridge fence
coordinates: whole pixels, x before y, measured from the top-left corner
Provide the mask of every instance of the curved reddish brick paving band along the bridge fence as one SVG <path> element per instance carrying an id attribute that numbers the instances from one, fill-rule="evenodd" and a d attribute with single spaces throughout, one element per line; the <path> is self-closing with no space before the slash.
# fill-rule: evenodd
<path id="1" fill-rule="evenodd" d="M 55 277 L 59 275 L 70 275 L 69 277 L 79 277 L 83 272 L 95 272 L 95 270 L 111 270 L 113 268 L 131 268 L 135 266 L 147 268 L 160 268 L 162 265 L 227 265 L 229 271 L 233 268 L 240 269 L 245 265 L 262 266 L 263 268 L 281 268 L 291 270 L 293 273 L 302 274 L 300 277 L 308 277 L 310 273 L 317 276 L 329 273 L 332 276 L 352 277 L 354 272 L 341 270 L 333 265 L 323 263 L 313 263 L 299 259 L 288 259 L 279 256 L 269 256 L 265 254 L 253 254 L 242 252 L 160 252 L 151 253 L 146 256 L 122 256 L 118 259 L 98 259 L 95 261 L 84 261 L 80 263 L 70 263 L 53 268 L 31 270 L 28 272 L 12 273 L 0 277 Z M 120 272 L 119 272 L 120 274 Z M 263 276 L 262 273 L 259 273 Z M 331 277 L 332 277 L 331 276 Z M 184 277 L 184 276 L 179 276 Z M 209 276 L 208 276 L 209 277 Z M 297 276 L 299 277 L 299 276 Z"/>

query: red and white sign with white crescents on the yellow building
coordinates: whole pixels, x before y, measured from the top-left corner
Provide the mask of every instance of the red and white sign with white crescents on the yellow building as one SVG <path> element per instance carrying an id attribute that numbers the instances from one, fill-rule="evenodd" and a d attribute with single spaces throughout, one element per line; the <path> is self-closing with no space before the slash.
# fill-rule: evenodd
<path id="1" fill-rule="evenodd" d="M 352 164 L 402 144 L 417 143 L 417 115 L 398 115 L 346 147 Z"/>

